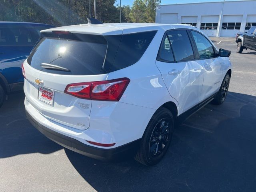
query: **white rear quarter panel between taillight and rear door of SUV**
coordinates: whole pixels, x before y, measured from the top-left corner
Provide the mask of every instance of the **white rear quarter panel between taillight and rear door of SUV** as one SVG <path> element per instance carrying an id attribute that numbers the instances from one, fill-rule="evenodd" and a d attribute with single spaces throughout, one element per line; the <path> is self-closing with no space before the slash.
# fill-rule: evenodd
<path id="1" fill-rule="evenodd" d="M 178 102 L 170 96 L 161 73 L 156 67 L 156 57 L 164 32 L 164 30 L 158 30 L 137 63 L 108 74 L 108 79 L 122 77 L 130 79 L 120 102 L 157 110 L 162 104 L 172 101 L 178 108 Z"/>

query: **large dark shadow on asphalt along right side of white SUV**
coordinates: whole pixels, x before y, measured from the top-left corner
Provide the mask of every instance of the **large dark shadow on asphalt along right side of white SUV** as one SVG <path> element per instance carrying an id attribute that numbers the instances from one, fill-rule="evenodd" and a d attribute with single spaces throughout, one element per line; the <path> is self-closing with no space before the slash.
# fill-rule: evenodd
<path id="1" fill-rule="evenodd" d="M 146 167 L 133 159 L 106 163 L 65 149 L 97 191 L 254 191 L 256 97 L 229 92 L 175 130 L 168 153 Z"/>

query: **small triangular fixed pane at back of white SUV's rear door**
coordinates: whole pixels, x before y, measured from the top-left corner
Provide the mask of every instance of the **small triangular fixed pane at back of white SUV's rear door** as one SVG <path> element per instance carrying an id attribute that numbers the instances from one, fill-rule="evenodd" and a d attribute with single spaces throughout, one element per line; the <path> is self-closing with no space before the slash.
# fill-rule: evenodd
<path id="1" fill-rule="evenodd" d="M 170 46 L 169 39 L 167 35 L 165 35 L 165 38 L 162 40 L 162 44 L 160 46 L 160 50 L 158 52 L 158 59 L 162 62 L 173 62 L 174 57 L 172 53 L 172 48 Z"/>

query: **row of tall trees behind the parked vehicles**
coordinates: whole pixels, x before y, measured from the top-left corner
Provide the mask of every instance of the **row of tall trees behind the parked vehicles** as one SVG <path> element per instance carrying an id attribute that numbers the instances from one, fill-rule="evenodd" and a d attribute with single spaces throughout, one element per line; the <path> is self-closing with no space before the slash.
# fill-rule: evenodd
<path id="1" fill-rule="evenodd" d="M 116 0 L 96 0 L 97 19 L 104 23 L 120 22 L 120 7 L 115 3 Z M 134 0 L 132 7 L 121 7 L 121 20 L 154 22 L 155 8 L 159 3 L 160 0 Z M 54 26 L 85 24 L 88 17 L 94 17 L 94 0 L 0 0 L 0 10 L 0 21 Z"/>

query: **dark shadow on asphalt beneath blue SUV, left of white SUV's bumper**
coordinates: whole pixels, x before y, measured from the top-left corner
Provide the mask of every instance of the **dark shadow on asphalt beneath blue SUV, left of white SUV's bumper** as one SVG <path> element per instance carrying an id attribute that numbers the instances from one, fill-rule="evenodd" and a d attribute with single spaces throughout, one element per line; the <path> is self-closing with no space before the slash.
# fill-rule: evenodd
<path id="1" fill-rule="evenodd" d="M 25 115 L 24 93 L 9 96 L 0 108 L 0 158 L 19 154 L 49 154 L 62 147 L 30 124 Z"/>

